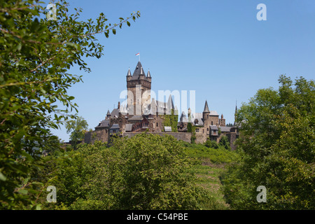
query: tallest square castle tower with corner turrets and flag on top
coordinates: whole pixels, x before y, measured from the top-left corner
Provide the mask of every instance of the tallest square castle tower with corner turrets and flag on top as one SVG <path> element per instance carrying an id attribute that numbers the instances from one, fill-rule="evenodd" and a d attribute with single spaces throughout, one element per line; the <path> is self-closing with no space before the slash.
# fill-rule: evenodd
<path id="1" fill-rule="evenodd" d="M 144 73 L 141 62 L 138 62 L 134 73 L 130 69 L 127 73 L 127 107 L 131 116 L 142 115 L 144 109 L 151 102 L 151 73 Z"/>

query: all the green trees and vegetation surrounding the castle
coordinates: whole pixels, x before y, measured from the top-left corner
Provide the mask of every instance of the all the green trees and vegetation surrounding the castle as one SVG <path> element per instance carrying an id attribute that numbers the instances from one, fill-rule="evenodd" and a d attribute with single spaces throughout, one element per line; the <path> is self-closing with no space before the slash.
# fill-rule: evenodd
<path id="1" fill-rule="evenodd" d="M 106 25 L 103 13 L 79 21 L 80 9 L 56 5 L 47 20 L 38 1 L 0 1 L 0 209 L 315 209 L 315 85 L 302 77 L 280 76 L 279 90 L 241 106 L 234 152 L 227 137 L 194 144 L 190 123 L 192 144 L 143 133 L 76 146 L 87 125 L 68 122 L 75 144 L 62 149 L 50 130 L 76 118 L 67 90 L 82 80 L 67 71 L 90 71 L 83 58 L 103 52 L 95 34 L 116 34 L 139 12 Z M 176 130 L 174 111 L 165 118 Z M 46 201 L 48 186 L 57 203 Z"/>

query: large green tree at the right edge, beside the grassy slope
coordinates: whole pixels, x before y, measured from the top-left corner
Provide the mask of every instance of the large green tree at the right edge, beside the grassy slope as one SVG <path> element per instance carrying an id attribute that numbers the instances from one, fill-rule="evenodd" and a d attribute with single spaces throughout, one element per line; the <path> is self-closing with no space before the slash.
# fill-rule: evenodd
<path id="1" fill-rule="evenodd" d="M 241 162 L 223 179 L 234 209 L 315 209 L 315 85 L 282 75 L 279 90 L 258 90 L 238 111 Z M 258 186 L 267 203 L 258 203 Z"/>

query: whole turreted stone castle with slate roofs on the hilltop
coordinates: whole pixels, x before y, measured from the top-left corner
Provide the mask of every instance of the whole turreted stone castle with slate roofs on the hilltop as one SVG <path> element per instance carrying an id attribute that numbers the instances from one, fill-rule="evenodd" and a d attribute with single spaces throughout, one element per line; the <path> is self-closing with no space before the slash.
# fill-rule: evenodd
<path id="1" fill-rule="evenodd" d="M 171 95 L 167 102 L 151 99 L 151 73 L 144 72 L 141 62 L 138 62 L 133 74 L 128 70 L 126 79 L 127 104 L 120 105 L 118 102 L 116 109 L 107 111 L 106 117 L 99 122 L 95 130 L 85 133 L 85 143 L 110 142 L 113 135 L 133 137 L 139 132 L 170 134 L 187 142 L 193 137 L 196 143 L 204 143 L 207 139 L 218 142 L 226 135 L 232 150 L 235 149 L 233 142 L 239 135 L 239 128 L 235 125 L 227 127 L 223 115 L 219 118 L 216 111 L 209 110 L 207 100 L 202 113 L 192 113 L 188 109 L 188 116 L 182 111 L 178 120 L 178 110 Z M 170 126 L 169 120 L 166 122 L 167 116 L 176 116 L 175 125 Z"/>

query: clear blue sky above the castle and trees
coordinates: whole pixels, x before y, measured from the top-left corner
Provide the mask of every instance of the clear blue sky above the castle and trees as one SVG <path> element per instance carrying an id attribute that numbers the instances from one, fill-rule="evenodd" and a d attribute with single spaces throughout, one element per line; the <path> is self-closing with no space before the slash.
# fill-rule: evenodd
<path id="1" fill-rule="evenodd" d="M 69 1 L 83 8 L 82 20 L 104 13 L 111 23 L 133 11 L 141 17 L 118 29 L 116 35 L 97 38 L 104 56 L 87 59 L 91 73 L 73 85 L 78 115 L 94 130 L 109 109 L 117 106 L 126 89 L 128 68 L 141 63 L 152 76 L 152 89 L 195 90 L 196 112 L 209 109 L 234 122 L 235 101 L 248 102 L 261 88 L 277 89 L 278 78 L 315 77 L 314 0 L 207 1 Z M 267 21 L 258 21 L 259 3 L 267 6 Z M 76 69 L 73 69 L 76 71 Z M 53 131 L 69 141 L 64 128 Z"/>

